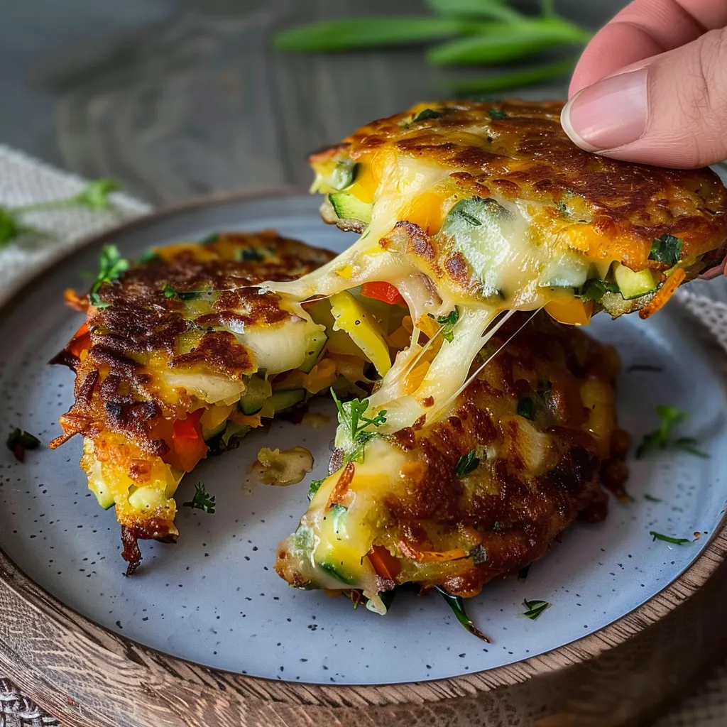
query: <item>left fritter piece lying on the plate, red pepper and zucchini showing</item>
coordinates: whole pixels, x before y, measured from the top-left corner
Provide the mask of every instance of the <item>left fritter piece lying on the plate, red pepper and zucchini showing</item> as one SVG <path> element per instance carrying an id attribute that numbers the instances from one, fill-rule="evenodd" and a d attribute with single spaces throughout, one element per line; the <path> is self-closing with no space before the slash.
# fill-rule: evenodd
<path id="1" fill-rule="evenodd" d="M 52 446 L 83 436 L 81 467 L 99 504 L 116 507 L 129 573 L 137 539 L 177 538 L 174 492 L 201 459 L 329 387 L 366 393 L 357 384 L 370 383 L 371 359 L 345 334 L 349 318 L 375 329 L 361 345 L 373 346 L 380 373 L 390 366 L 387 326 L 401 328 L 403 308 L 398 321 L 390 307 L 378 320 L 345 293 L 306 310 L 255 287 L 332 257 L 272 232 L 158 248 L 131 267 L 108 247 L 92 292 L 68 294 L 87 320 L 52 361 L 76 373 Z"/>

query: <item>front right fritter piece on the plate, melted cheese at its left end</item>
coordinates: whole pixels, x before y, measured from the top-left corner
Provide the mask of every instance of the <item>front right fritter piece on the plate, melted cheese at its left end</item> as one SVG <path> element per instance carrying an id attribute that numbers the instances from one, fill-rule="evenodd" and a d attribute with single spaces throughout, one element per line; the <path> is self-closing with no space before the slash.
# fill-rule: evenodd
<path id="1" fill-rule="evenodd" d="M 576 518 L 606 516 L 602 487 L 627 476 L 616 352 L 543 313 L 513 337 L 525 315 L 490 338 L 436 421 L 398 428 L 366 403 L 340 405 L 336 471 L 278 547 L 281 577 L 385 613 L 398 585 L 470 597 L 541 558 Z"/>

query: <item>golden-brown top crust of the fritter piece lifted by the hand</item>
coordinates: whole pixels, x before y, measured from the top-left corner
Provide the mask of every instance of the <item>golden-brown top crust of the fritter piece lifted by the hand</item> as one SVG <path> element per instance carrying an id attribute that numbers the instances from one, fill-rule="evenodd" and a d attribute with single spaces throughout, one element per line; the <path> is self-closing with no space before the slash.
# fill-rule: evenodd
<path id="1" fill-rule="evenodd" d="M 441 116 L 413 121 L 424 108 Z M 563 132 L 562 108 L 560 102 L 419 104 L 362 126 L 311 161 L 349 157 L 375 166 L 385 153 L 423 158 L 451 169 L 449 180 L 462 196 L 532 201 L 552 207 L 552 214 L 575 198 L 596 233 L 593 244 L 634 270 L 659 267 L 647 261 L 648 253 L 654 239 L 666 234 L 683 240 L 688 265 L 702 258 L 704 270 L 720 262 L 727 244 L 727 190 L 716 174 L 587 153 Z"/>

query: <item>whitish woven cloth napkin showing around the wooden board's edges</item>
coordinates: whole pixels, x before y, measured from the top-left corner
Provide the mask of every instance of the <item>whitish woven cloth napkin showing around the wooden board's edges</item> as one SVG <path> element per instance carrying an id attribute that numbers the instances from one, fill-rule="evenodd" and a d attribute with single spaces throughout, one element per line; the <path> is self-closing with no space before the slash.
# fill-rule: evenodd
<path id="1" fill-rule="evenodd" d="M 0 145 L 0 205 L 31 204 L 68 197 L 78 193 L 86 180 L 61 172 L 25 154 Z M 68 252 L 81 246 L 92 235 L 137 217 L 150 210 L 148 204 L 123 193 L 114 193 L 113 212 L 98 212 L 83 207 L 69 207 L 53 212 L 37 212 L 28 223 L 49 236 L 24 236 L 0 249 L 0 300 L 28 280 L 28 274 L 47 268 Z M 727 305 L 684 292 L 681 295 L 690 308 L 700 309 L 715 337 L 727 348 Z M 710 308 L 705 316 L 704 308 Z M 0 678 L 2 675 L 0 674 Z M 8 688 L 9 689 L 9 688 Z M 17 693 L 13 693 L 17 701 Z M 15 703 L 15 702 L 14 702 Z M 19 703 L 19 702 L 18 702 Z M 7 716 L 12 727 L 17 713 L 0 710 L 0 720 Z M 16 722 L 20 724 L 20 721 Z M 23 722 L 25 724 L 25 722 Z M 727 667 L 720 668 L 700 693 L 680 705 L 655 727 L 725 727 L 727 725 Z"/>

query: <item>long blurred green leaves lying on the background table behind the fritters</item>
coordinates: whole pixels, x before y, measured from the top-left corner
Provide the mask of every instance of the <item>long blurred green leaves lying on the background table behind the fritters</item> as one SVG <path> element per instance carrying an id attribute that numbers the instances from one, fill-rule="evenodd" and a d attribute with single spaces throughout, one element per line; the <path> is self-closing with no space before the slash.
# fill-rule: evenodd
<path id="1" fill-rule="evenodd" d="M 586 44 L 591 37 L 585 28 L 558 15 L 549 0 L 542 0 L 536 16 L 519 12 L 507 0 L 427 0 L 427 5 L 435 15 L 325 20 L 282 31 L 273 42 L 286 51 L 339 52 L 445 40 L 427 52 L 432 65 L 499 67 L 548 47 Z M 564 76 L 573 66 L 574 60 L 561 60 L 483 79 L 454 80 L 451 85 L 475 93 L 511 89 Z"/>

